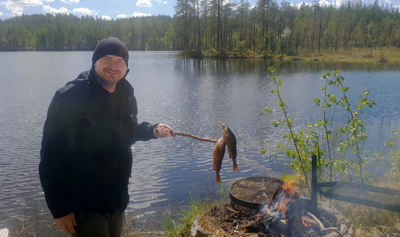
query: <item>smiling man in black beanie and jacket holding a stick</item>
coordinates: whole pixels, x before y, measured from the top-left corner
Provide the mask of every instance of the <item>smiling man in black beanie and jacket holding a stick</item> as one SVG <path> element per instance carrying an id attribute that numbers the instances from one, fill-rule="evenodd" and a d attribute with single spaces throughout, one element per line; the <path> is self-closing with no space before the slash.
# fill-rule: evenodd
<path id="1" fill-rule="evenodd" d="M 120 237 L 128 205 L 131 145 L 175 133 L 138 124 L 134 90 L 125 79 L 128 49 L 101 40 L 92 68 L 59 89 L 48 109 L 39 175 L 56 225 L 72 236 Z"/>

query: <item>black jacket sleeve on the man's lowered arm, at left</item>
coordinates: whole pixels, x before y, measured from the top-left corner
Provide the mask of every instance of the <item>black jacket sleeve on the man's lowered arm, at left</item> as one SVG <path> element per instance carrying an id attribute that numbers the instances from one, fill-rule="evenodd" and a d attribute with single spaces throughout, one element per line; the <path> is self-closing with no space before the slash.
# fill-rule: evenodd
<path id="1" fill-rule="evenodd" d="M 68 112 L 63 104 L 56 93 L 47 112 L 40 149 L 39 177 L 54 219 L 74 209 L 67 180 Z"/>

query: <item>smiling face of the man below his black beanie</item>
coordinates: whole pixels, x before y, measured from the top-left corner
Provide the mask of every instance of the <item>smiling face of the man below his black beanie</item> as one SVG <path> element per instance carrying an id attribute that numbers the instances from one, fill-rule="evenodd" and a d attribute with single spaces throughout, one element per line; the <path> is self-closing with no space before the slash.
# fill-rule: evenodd
<path id="1" fill-rule="evenodd" d="M 114 85 L 125 76 L 126 63 L 120 56 L 106 55 L 94 63 L 94 70 L 105 83 Z"/>

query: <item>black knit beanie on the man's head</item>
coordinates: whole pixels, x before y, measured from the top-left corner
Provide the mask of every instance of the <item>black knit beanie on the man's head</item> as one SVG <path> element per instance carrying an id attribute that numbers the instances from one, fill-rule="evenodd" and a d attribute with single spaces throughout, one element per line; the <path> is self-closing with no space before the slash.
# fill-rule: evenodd
<path id="1" fill-rule="evenodd" d="M 126 45 L 124 42 L 122 42 L 122 40 L 115 37 L 106 37 L 100 40 L 94 49 L 92 64 L 94 65 L 99 58 L 102 58 L 106 55 L 120 56 L 125 60 L 126 67 L 128 68 L 128 48 L 126 48 Z"/>

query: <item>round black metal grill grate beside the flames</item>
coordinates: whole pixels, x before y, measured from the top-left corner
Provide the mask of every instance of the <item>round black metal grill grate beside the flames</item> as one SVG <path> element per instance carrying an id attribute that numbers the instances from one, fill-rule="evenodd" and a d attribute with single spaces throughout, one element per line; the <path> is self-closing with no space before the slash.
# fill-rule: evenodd
<path id="1" fill-rule="evenodd" d="M 268 204 L 282 179 L 255 176 L 238 179 L 230 185 L 229 196 L 232 202 L 257 209 L 260 204 Z"/>

